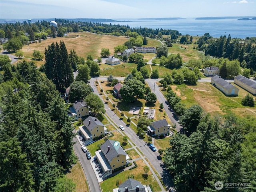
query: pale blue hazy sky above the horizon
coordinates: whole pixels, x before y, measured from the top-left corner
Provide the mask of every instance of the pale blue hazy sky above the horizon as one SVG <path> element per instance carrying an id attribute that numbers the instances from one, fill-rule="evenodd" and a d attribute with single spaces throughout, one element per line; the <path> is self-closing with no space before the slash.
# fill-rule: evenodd
<path id="1" fill-rule="evenodd" d="M 0 0 L 0 18 L 256 16 L 256 0 Z"/>

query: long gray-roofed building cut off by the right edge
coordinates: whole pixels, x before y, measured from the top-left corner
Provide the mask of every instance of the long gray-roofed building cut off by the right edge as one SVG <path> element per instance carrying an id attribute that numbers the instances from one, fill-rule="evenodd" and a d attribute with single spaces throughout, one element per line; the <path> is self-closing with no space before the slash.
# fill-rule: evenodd
<path id="1" fill-rule="evenodd" d="M 242 87 L 246 91 L 250 92 L 254 96 L 256 96 L 256 82 L 252 81 L 245 76 L 238 75 L 234 79 L 234 84 L 237 84 L 238 86 Z"/>

